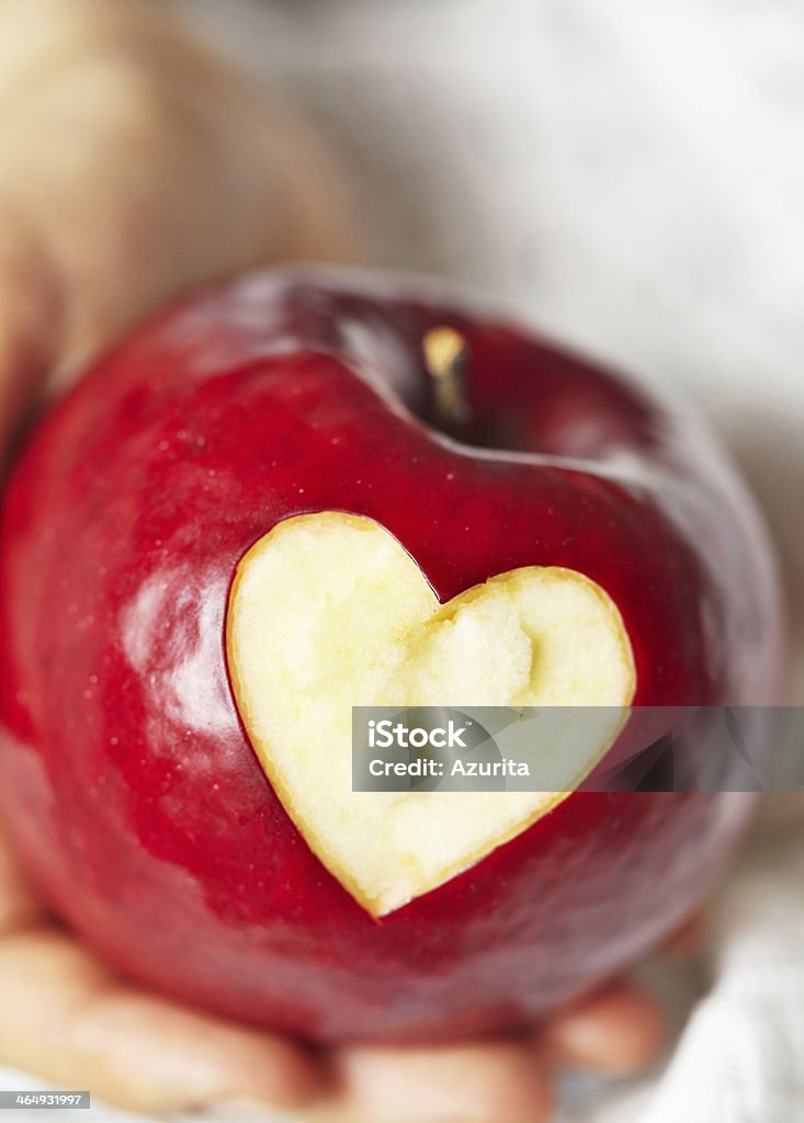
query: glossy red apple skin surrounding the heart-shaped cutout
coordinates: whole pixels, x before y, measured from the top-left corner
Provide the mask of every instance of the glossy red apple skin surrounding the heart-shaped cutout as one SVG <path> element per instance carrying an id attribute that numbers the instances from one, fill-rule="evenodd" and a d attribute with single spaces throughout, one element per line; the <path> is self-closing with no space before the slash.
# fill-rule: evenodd
<path id="1" fill-rule="evenodd" d="M 470 348 L 460 441 L 420 357 L 441 325 Z M 752 797 L 576 793 L 372 920 L 261 770 L 223 647 L 238 559 L 331 509 L 391 530 L 441 600 L 518 566 L 587 574 L 623 614 L 638 704 L 778 700 L 765 532 L 696 420 L 470 300 L 264 274 L 143 328 L 16 468 L 2 813 L 54 909 L 189 1002 L 318 1041 L 531 1021 L 700 903 Z"/>

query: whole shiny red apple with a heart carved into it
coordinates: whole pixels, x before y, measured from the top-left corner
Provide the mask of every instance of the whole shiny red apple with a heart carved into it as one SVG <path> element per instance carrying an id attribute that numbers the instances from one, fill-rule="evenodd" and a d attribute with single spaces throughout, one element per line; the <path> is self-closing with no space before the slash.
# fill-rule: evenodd
<path id="1" fill-rule="evenodd" d="M 750 813 L 348 788 L 351 704 L 778 699 L 710 433 L 470 300 L 207 292 L 44 420 L 1 533 L 2 813 L 57 912 L 190 1002 L 322 1041 L 530 1021 L 678 924 Z"/>

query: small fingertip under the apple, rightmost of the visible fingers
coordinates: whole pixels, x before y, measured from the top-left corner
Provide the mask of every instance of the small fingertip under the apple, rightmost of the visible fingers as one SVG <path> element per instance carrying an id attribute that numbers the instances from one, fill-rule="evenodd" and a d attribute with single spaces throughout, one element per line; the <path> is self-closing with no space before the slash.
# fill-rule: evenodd
<path id="1" fill-rule="evenodd" d="M 666 1038 L 656 998 L 619 984 L 555 1016 L 541 1031 L 538 1048 L 558 1065 L 624 1076 L 652 1063 Z"/>

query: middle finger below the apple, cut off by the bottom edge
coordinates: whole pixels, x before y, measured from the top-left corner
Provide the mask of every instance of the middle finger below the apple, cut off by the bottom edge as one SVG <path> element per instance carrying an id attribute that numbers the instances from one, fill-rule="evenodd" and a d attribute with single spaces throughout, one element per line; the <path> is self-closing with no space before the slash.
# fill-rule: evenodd
<path id="1" fill-rule="evenodd" d="M 552 1108 L 546 1070 L 513 1042 L 348 1049 L 335 1075 L 316 1123 L 545 1123 Z"/>

